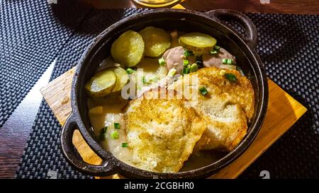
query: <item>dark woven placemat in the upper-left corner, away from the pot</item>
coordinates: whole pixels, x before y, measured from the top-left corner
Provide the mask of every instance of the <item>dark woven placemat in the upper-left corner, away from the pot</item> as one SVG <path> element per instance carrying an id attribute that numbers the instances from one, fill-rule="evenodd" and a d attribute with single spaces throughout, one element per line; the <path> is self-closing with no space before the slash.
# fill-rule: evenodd
<path id="1" fill-rule="evenodd" d="M 0 127 L 87 11 L 73 0 L 52 5 L 43 0 L 0 1 Z"/>

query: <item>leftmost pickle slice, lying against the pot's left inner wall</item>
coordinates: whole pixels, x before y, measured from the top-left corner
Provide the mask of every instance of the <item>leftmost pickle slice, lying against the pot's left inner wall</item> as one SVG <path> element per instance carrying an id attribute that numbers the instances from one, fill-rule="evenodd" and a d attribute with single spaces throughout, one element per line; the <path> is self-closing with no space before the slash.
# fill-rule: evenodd
<path id="1" fill-rule="evenodd" d="M 102 97 L 111 93 L 116 86 L 116 74 L 111 70 L 103 70 L 95 74 L 86 83 L 85 88 L 92 97 Z"/>

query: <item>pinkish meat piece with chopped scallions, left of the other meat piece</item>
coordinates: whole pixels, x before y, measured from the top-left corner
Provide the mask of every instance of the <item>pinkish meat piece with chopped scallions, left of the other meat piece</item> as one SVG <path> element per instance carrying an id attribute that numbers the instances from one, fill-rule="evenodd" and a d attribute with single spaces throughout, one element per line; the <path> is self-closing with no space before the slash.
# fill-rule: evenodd
<path id="1" fill-rule="evenodd" d="M 173 47 L 171 49 L 167 49 L 166 52 L 163 54 L 163 59 L 166 62 L 167 69 L 176 69 L 177 74 L 181 74 L 184 66 L 183 66 L 183 60 L 186 59 L 184 56 L 184 48 L 181 46 Z M 196 62 L 196 57 L 191 56 L 187 57 L 189 60 L 189 64 L 193 64 Z"/>

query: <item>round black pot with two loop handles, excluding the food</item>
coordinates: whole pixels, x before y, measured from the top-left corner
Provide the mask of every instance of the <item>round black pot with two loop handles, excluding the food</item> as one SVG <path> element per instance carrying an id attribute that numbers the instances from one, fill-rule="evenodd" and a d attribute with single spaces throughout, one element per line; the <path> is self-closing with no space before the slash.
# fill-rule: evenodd
<path id="1" fill-rule="evenodd" d="M 232 28 L 225 24 L 225 21 L 235 21 L 245 29 L 245 37 L 242 37 Z M 199 31 L 212 35 L 218 40 L 218 45 L 227 49 L 236 56 L 237 64 L 252 82 L 255 93 L 255 112 L 247 135 L 240 144 L 226 156 L 206 165 L 203 168 L 177 173 L 157 173 L 140 170 L 127 165 L 121 160 L 113 157 L 103 149 L 99 140 L 96 139 L 88 115 L 86 106 L 86 93 L 84 85 L 93 76 L 94 71 L 110 53 L 111 44 L 126 30 L 141 30 L 146 26 L 156 26 L 167 30 L 182 30 L 186 32 Z M 200 13 L 188 10 L 157 9 L 147 11 L 111 25 L 103 31 L 86 49 L 79 60 L 77 71 L 72 83 L 72 115 L 69 116 L 62 129 L 61 145 L 65 158 L 74 168 L 89 175 L 103 176 L 112 175 L 117 172 L 127 177 L 142 178 L 199 178 L 213 175 L 220 168 L 235 160 L 245 149 L 250 146 L 257 135 L 266 115 L 268 103 L 268 85 L 262 62 L 254 51 L 257 44 L 257 31 L 252 21 L 247 16 L 230 10 L 215 10 L 207 13 Z M 72 144 L 74 129 L 79 129 L 85 141 L 91 149 L 103 160 L 101 165 L 90 165 L 85 163 L 79 156 Z"/>

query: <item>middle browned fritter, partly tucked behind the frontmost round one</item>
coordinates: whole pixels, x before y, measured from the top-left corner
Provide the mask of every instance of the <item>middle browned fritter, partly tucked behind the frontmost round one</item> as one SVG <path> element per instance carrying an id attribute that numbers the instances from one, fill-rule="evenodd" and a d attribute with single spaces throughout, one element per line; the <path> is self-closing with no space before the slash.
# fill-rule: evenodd
<path id="1" fill-rule="evenodd" d="M 228 103 L 223 95 L 212 98 L 213 103 L 203 102 L 202 108 L 207 129 L 196 144 L 196 150 L 218 149 L 232 151 L 247 133 L 247 119 L 239 104 Z"/>

